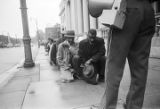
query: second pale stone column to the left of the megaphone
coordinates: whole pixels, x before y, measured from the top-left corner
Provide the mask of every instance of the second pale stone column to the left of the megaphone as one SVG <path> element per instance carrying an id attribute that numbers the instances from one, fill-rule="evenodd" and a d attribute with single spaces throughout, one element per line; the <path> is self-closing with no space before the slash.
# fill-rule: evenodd
<path id="1" fill-rule="evenodd" d="M 78 22 L 78 33 L 83 33 L 83 13 L 82 13 L 82 0 L 77 1 L 77 22 Z"/>

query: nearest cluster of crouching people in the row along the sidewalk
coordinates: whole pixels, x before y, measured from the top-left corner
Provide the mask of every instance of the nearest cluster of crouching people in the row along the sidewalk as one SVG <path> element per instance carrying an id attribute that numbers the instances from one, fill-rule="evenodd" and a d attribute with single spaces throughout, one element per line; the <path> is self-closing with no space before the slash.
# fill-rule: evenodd
<path id="1" fill-rule="evenodd" d="M 74 31 L 66 31 L 56 42 L 50 45 L 51 63 L 61 71 L 61 80 L 71 82 L 82 79 L 90 84 L 104 81 L 105 72 L 105 43 L 97 37 L 95 29 L 88 31 L 86 39 L 74 43 Z"/>

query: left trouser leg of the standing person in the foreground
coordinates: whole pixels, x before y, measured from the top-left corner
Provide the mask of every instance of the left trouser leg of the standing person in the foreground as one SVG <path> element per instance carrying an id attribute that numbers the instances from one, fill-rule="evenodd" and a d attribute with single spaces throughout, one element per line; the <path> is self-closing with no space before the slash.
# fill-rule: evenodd
<path id="1" fill-rule="evenodd" d="M 138 9 L 129 9 L 123 30 L 113 29 L 106 62 L 106 90 L 99 109 L 116 109 L 126 57 L 138 33 L 141 16 Z"/>

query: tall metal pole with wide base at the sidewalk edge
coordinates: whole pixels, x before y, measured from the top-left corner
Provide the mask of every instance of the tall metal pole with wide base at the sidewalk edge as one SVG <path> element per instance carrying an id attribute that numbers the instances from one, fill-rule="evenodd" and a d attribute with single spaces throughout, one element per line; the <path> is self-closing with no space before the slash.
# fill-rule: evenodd
<path id="1" fill-rule="evenodd" d="M 31 38 L 29 35 L 29 28 L 28 28 L 28 15 L 27 15 L 27 6 L 26 0 L 20 0 L 20 9 L 21 9 L 21 16 L 22 16 L 22 26 L 23 26 L 23 43 L 24 43 L 24 52 L 25 52 L 25 62 L 24 67 L 33 67 L 35 63 L 32 59 L 32 52 L 31 52 Z"/>

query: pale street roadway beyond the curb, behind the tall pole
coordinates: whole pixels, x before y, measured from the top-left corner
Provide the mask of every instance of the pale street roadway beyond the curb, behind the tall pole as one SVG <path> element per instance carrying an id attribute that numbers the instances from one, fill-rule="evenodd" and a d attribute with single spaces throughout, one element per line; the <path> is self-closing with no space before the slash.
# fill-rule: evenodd
<path id="1" fill-rule="evenodd" d="M 20 51 L 19 51 L 20 50 Z M 24 63 L 24 53 L 22 53 L 22 48 L 18 48 L 18 51 L 15 49 L 5 49 L 5 52 L 2 54 L 1 57 L 1 67 L 0 70 L 0 88 L 3 87 L 8 81 L 14 76 L 16 72 L 20 70 Z M 2 52 L 2 51 L 1 51 Z M 14 52 L 14 53 L 13 53 Z M 7 53 L 5 55 L 5 53 Z M 12 55 L 12 54 L 13 55 Z M 35 45 L 32 47 L 32 58 L 35 60 L 38 53 L 38 47 Z M 4 56 L 5 55 L 5 56 Z M 16 57 L 18 56 L 18 58 Z M 15 59 L 13 59 L 15 58 Z M 21 59 L 21 60 L 20 60 Z M 4 64 L 4 65 L 3 65 Z M 6 70 L 6 68 L 8 70 Z"/>

